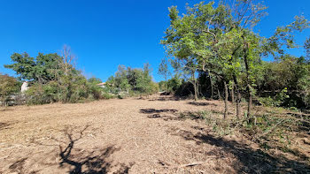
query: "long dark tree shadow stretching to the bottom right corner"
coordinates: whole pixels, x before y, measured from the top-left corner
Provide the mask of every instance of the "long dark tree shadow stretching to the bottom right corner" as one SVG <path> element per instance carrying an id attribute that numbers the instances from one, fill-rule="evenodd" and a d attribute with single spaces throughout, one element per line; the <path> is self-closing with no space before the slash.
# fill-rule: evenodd
<path id="1" fill-rule="evenodd" d="M 283 156 L 274 157 L 236 140 L 225 140 L 201 132 L 193 134 L 189 131 L 178 131 L 173 135 L 182 136 L 184 140 L 194 140 L 197 145 L 209 144 L 220 148 L 219 151 L 236 156 L 239 163 L 232 167 L 238 173 L 310 173 L 310 166 L 306 163 L 290 160 Z M 215 151 L 210 153 L 209 155 L 216 155 Z"/>

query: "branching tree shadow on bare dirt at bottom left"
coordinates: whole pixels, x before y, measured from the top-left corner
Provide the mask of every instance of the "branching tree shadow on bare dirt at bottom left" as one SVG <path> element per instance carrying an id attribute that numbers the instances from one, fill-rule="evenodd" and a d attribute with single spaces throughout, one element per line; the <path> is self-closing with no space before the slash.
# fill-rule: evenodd
<path id="1" fill-rule="evenodd" d="M 128 170 L 134 163 L 117 163 L 112 159 L 112 154 L 119 151 L 120 148 L 106 146 L 105 148 L 77 148 L 76 142 L 81 140 L 83 133 L 88 129 L 89 125 L 85 126 L 81 131 L 74 131 L 74 128 L 66 127 L 64 136 L 61 139 L 51 138 L 56 144 L 43 144 L 33 140 L 33 143 L 44 147 L 58 147 L 59 163 L 50 162 L 49 156 L 44 157 L 46 161 L 43 163 L 49 166 L 58 165 L 60 168 L 69 169 L 70 174 L 105 174 L 105 173 L 128 173 Z M 54 153 L 52 153 L 54 155 Z M 36 173 L 37 171 L 29 172 L 29 167 L 25 166 L 29 155 L 19 159 L 9 167 L 11 172 L 18 173 Z M 35 157 L 36 158 L 36 157 Z M 34 160 L 34 159 L 33 159 Z M 42 159 L 41 159 L 42 160 Z M 1 173 L 1 171 L 0 171 Z"/>

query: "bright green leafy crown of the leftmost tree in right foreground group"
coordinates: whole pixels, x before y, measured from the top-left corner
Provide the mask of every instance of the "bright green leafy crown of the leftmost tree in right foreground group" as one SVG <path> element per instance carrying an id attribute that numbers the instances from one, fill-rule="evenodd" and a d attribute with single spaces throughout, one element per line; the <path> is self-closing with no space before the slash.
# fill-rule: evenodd
<path id="1" fill-rule="evenodd" d="M 193 8 L 188 7 L 182 17 L 179 17 L 176 7 L 170 8 L 171 25 L 162 43 L 167 45 L 169 54 L 184 60 L 185 64 L 194 62 L 200 70 L 226 79 L 228 75 L 225 72 L 234 72 L 229 71 L 229 67 L 234 67 L 233 70 L 240 67 L 240 61 L 232 58 L 233 50 L 238 47 L 234 38 L 229 38 L 233 34 L 227 34 L 234 29 L 229 9 L 224 4 L 213 8 L 213 4 L 200 3 Z M 236 31 L 234 33 L 237 34 Z"/>

